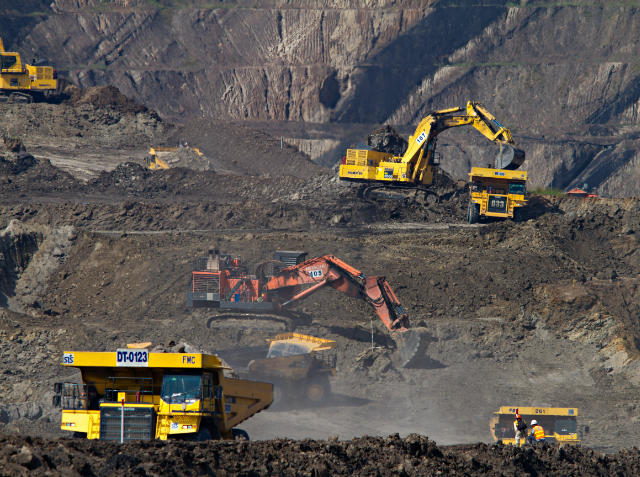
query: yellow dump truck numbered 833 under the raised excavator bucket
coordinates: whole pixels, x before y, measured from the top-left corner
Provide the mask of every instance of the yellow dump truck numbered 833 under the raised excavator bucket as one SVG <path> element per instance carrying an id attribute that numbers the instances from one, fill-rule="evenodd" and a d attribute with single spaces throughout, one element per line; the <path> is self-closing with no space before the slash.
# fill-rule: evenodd
<path id="1" fill-rule="evenodd" d="M 527 205 L 526 171 L 473 167 L 469 173 L 467 221 L 480 217 L 504 217 L 521 222 Z"/>

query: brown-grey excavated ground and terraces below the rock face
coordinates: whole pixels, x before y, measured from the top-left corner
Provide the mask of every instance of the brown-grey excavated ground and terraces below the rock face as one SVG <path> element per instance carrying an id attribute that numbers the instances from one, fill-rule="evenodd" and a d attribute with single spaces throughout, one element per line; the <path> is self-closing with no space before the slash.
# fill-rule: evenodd
<path id="1" fill-rule="evenodd" d="M 445 173 L 432 194 L 375 200 L 273 137 L 229 171 L 149 171 L 146 148 L 192 145 L 186 129 L 111 89 L 64 101 L 0 105 L 16 127 L 0 150 L 5 474 L 637 473 L 624 449 L 640 438 L 638 199 L 532 196 L 522 223 L 470 226 L 464 183 Z M 212 159 L 215 147 L 240 157 L 232 132 L 263 137 L 205 123 Z M 211 248 L 250 266 L 278 248 L 333 254 L 384 275 L 419 352 L 402 367 L 371 308 L 333 290 L 282 317 L 187 308 L 191 263 Z M 63 351 L 175 340 L 214 352 L 285 331 L 336 340 L 337 376 L 324 403 L 286 400 L 243 423 L 257 442 L 122 447 L 59 428 L 53 384 L 79 379 Z M 486 445 L 500 406 L 577 407 L 582 447 Z"/>

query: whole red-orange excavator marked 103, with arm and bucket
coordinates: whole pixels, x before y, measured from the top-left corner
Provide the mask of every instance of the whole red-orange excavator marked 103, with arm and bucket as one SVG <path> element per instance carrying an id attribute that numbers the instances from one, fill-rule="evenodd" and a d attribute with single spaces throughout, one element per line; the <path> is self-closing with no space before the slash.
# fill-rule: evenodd
<path id="1" fill-rule="evenodd" d="M 306 252 L 274 252 L 250 275 L 240 257 L 210 250 L 194 262 L 187 306 L 282 312 L 326 286 L 369 303 L 392 333 L 403 364 L 418 350 L 420 335 L 385 277 L 365 277 L 333 255 L 305 260 Z M 311 287 L 303 290 L 304 285 Z"/>

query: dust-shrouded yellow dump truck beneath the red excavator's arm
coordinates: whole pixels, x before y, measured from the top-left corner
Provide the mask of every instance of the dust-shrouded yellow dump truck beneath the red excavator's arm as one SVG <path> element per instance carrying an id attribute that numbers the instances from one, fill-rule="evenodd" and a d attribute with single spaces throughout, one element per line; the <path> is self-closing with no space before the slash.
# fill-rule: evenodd
<path id="1" fill-rule="evenodd" d="M 234 371 L 274 384 L 274 403 L 285 396 L 319 403 L 331 393 L 329 376 L 336 375 L 336 342 L 299 333 L 282 333 L 265 346 L 217 352 Z"/>

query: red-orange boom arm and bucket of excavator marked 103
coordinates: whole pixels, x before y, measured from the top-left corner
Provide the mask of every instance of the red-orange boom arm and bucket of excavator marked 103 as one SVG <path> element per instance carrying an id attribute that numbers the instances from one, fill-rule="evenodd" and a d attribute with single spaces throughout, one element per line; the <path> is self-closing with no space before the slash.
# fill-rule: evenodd
<path id="1" fill-rule="evenodd" d="M 301 285 L 312 286 L 300 291 Z M 307 260 L 280 270 L 264 285 L 266 291 L 278 291 L 287 300 L 282 307 L 304 300 L 325 287 L 369 303 L 385 326 L 392 332 L 398 351 L 406 364 L 416 353 L 420 336 L 409 329 L 409 315 L 385 277 L 365 277 L 333 255 Z"/>

